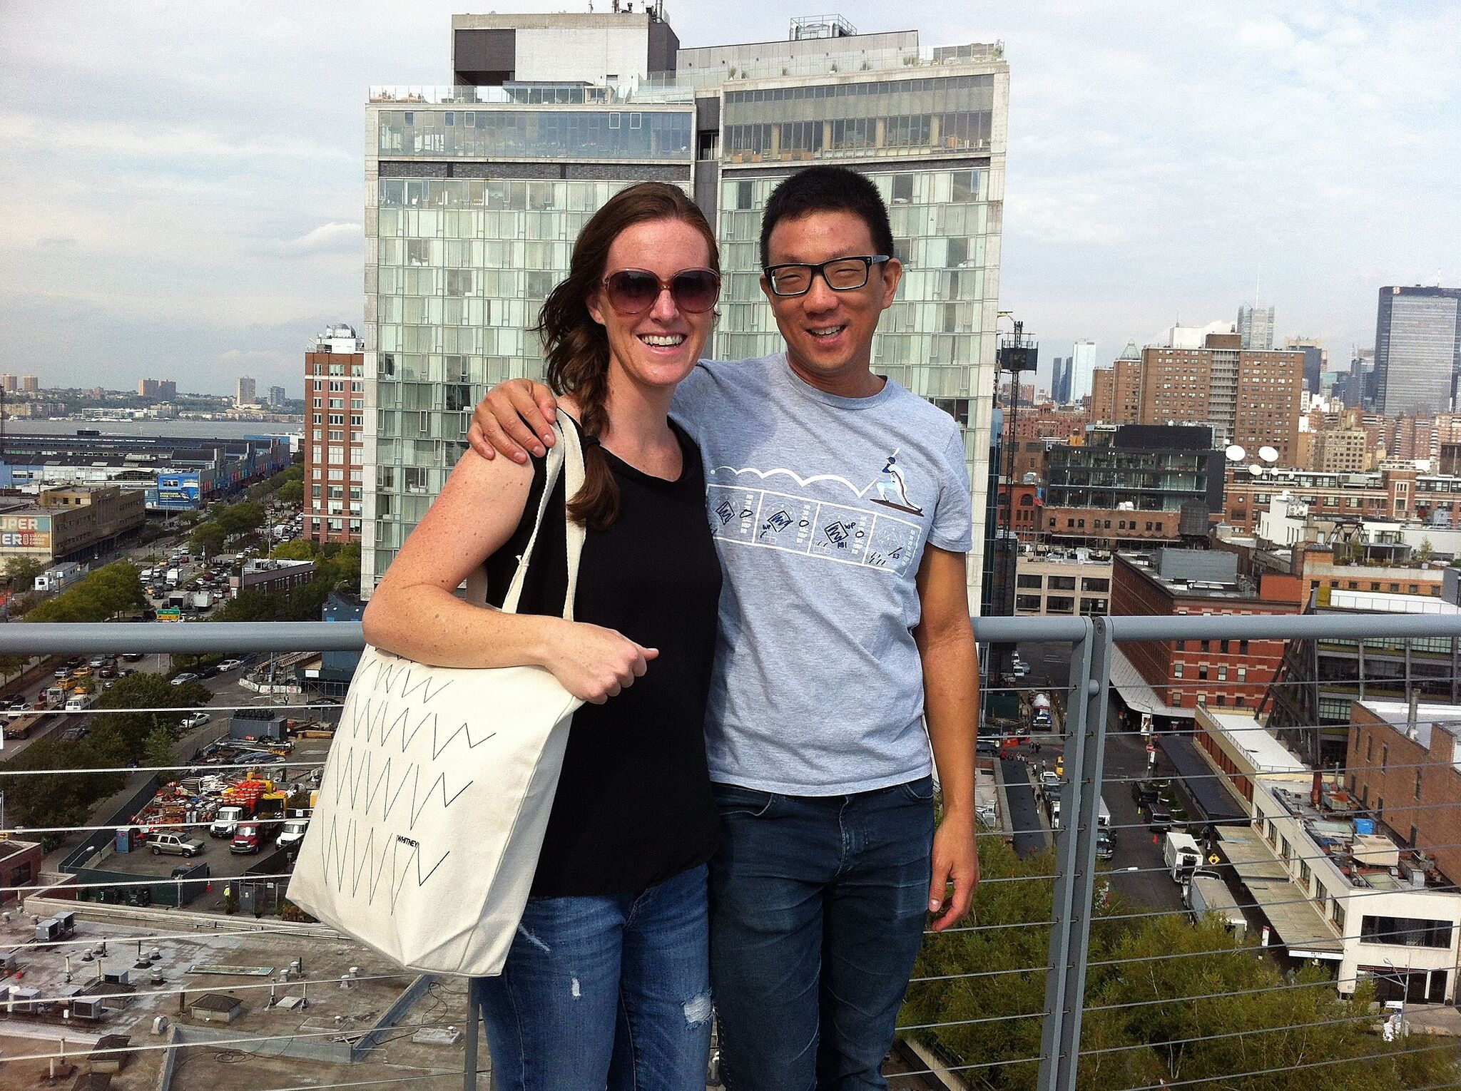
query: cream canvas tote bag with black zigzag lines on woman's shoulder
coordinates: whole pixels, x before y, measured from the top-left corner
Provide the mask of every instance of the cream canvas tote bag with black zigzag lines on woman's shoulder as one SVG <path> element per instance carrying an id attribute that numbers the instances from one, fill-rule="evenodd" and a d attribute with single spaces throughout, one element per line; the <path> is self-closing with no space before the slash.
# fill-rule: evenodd
<path id="1" fill-rule="evenodd" d="M 532 537 L 503 600 L 514 612 L 560 470 L 583 485 L 562 413 Z M 573 619 L 583 527 L 567 520 Z M 484 603 L 487 575 L 468 580 Z M 288 898 L 365 946 L 424 973 L 503 970 L 527 904 L 548 814 L 583 704 L 542 667 L 422 666 L 365 647 L 340 708 Z"/>

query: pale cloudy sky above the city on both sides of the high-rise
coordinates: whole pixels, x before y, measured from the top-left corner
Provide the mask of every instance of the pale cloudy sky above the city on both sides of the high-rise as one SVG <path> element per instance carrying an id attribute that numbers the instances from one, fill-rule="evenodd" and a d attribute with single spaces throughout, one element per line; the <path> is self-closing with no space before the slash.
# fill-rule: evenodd
<path id="1" fill-rule="evenodd" d="M 498 0 L 495 10 L 584 10 Z M 606 6 L 603 0 L 600 10 Z M 1461 4 L 669 0 L 682 45 L 796 13 L 1011 69 L 1001 310 L 1099 359 L 1277 308 L 1331 367 L 1379 286 L 1461 283 Z M 365 98 L 450 82 L 482 6 L 0 0 L 0 371 L 42 386 L 301 393 L 307 340 L 362 324 Z M 894 13 L 896 12 L 896 13 Z"/>

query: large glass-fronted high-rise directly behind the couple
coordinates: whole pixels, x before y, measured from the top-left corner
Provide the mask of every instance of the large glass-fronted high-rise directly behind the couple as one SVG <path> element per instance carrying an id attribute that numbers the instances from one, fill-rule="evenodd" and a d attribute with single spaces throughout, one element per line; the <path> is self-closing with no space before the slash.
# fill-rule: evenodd
<path id="1" fill-rule="evenodd" d="M 655 12 L 456 16 L 453 35 L 456 86 L 377 88 L 367 107 L 365 593 L 465 450 L 478 399 L 541 377 L 538 308 L 612 193 L 657 180 L 695 199 L 723 272 L 709 351 L 760 356 L 782 348 L 758 283 L 761 210 L 814 162 L 863 171 L 888 203 L 906 273 L 874 367 L 964 428 L 983 542 L 1001 47 L 929 51 L 915 31 L 827 18 L 793 20 L 787 41 L 684 50 Z M 976 555 L 973 596 L 979 571 Z"/>

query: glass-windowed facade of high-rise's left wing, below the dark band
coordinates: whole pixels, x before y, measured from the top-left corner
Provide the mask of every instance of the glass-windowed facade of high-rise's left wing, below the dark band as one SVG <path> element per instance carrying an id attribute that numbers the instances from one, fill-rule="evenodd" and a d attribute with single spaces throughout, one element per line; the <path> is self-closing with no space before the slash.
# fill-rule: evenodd
<path id="1" fill-rule="evenodd" d="M 364 551 L 380 574 L 466 450 L 504 378 L 542 375 L 538 308 L 589 216 L 628 181 L 380 178 L 368 250 L 374 467 Z"/>

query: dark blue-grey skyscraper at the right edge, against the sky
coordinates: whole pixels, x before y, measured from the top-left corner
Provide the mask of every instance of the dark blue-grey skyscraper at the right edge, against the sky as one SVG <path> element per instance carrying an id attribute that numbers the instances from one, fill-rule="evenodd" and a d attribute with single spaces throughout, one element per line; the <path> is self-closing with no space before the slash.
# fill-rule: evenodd
<path id="1" fill-rule="evenodd" d="M 1442 413 L 1461 371 L 1461 288 L 1379 289 L 1375 409 Z"/>

